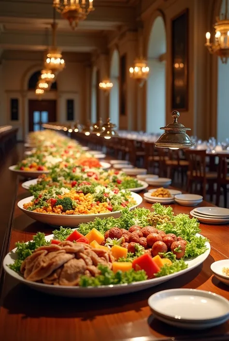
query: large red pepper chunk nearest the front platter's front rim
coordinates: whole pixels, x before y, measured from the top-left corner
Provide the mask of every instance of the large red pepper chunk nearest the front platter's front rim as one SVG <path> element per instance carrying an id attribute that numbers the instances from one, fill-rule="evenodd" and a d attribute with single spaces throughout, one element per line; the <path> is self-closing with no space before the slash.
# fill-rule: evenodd
<path id="1" fill-rule="evenodd" d="M 158 265 L 153 261 L 148 253 L 133 260 L 132 267 L 134 270 L 145 270 L 148 278 L 154 278 L 154 274 L 160 271 Z"/>

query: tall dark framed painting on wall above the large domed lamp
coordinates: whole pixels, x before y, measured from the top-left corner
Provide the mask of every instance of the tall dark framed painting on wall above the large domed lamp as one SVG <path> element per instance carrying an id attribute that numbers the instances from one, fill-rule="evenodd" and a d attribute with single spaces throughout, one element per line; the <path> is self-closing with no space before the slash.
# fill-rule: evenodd
<path id="1" fill-rule="evenodd" d="M 172 19 L 172 110 L 188 110 L 188 9 Z"/>

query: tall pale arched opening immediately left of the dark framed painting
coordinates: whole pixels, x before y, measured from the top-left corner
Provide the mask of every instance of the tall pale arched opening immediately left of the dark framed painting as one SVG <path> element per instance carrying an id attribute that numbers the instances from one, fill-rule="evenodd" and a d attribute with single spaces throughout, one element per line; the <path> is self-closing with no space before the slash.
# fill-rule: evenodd
<path id="1" fill-rule="evenodd" d="M 163 18 L 155 19 L 148 41 L 148 65 L 150 74 L 147 79 L 146 131 L 161 133 L 160 127 L 166 121 L 166 31 Z"/>

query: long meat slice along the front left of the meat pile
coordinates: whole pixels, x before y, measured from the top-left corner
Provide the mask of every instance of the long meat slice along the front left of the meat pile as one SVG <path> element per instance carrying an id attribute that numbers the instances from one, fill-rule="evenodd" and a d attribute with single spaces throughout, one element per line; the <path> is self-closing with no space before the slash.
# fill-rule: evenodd
<path id="1" fill-rule="evenodd" d="M 41 266 L 36 270 L 32 271 L 32 273 L 27 277 L 27 280 L 32 282 L 40 281 L 72 258 L 74 258 L 74 254 L 65 252 L 57 254 L 49 262 L 45 262 L 44 257 L 43 264 L 41 264 Z"/>

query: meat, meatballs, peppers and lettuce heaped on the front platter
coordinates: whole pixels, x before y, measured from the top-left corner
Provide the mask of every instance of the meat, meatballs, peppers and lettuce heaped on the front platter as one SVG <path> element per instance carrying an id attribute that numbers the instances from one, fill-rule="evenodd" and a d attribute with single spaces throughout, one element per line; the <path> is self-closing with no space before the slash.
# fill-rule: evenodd
<path id="1" fill-rule="evenodd" d="M 171 207 L 158 203 L 153 208 L 124 209 L 118 219 L 97 218 L 76 230 L 60 227 L 49 241 L 39 232 L 29 243 L 16 243 L 17 259 L 9 267 L 28 281 L 83 287 L 144 281 L 185 269 L 186 259 L 207 250 L 207 238 L 197 235 L 199 222 L 186 214 L 174 216 Z"/>

